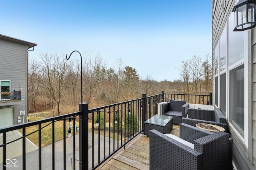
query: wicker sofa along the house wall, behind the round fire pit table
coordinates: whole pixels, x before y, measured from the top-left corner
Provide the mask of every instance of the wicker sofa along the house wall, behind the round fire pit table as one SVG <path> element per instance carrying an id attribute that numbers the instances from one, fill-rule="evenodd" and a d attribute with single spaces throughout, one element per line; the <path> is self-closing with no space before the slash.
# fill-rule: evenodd
<path id="1" fill-rule="evenodd" d="M 194 127 L 196 127 L 197 123 L 208 123 L 223 127 L 225 132 L 228 131 L 226 117 L 219 108 L 214 108 L 214 110 L 188 108 L 188 118 L 182 118 L 182 123 L 186 123 Z"/>

